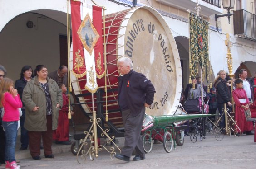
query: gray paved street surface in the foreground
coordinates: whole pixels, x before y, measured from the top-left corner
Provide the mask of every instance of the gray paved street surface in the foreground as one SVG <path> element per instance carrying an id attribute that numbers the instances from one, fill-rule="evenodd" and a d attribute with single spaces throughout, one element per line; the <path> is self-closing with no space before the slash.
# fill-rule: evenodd
<path id="1" fill-rule="evenodd" d="M 123 138 L 118 138 L 118 146 L 123 146 Z M 55 145 L 56 146 L 56 145 Z M 255 169 L 256 168 L 256 143 L 253 136 L 240 137 L 224 136 L 222 141 L 217 141 L 214 136 L 207 134 L 206 139 L 192 143 L 190 136 L 185 137 L 183 146 L 177 146 L 172 152 L 166 153 L 162 144 L 153 144 L 153 149 L 146 154 L 146 159 L 141 161 L 111 160 L 105 150 L 99 152 L 94 161 L 87 156 L 84 164 L 79 164 L 71 152 L 62 152 L 70 146 L 59 146 L 59 154 L 54 154 L 55 159 L 20 160 L 21 169 Z M 109 148 L 109 147 L 108 147 Z M 19 154 L 19 151 L 16 151 Z M 16 155 L 17 156 L 17 155 Z M 42 157 L 43 153 L 41 154 Z M 83 161 L 83 160 L 82 160 Z M 0 166 L 3 169 L 4 166 Z"/>

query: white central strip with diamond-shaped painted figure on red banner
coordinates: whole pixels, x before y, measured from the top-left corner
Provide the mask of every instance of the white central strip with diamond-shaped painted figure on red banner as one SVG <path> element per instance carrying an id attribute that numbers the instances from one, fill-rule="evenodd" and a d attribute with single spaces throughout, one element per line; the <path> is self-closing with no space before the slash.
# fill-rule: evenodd
<path id="1" fill-rule="evenodd" d="M 77 33 L 84 45 L 85 64 L 87 67 L 85 89 L 91 93 L 95 93 L 98 89 L 96 81 L 94 46 L 98 41 L 99 34 L 97 33 L 94 25 L 92 24 L 89 14 L 87 14 L 81 23 Z"/>

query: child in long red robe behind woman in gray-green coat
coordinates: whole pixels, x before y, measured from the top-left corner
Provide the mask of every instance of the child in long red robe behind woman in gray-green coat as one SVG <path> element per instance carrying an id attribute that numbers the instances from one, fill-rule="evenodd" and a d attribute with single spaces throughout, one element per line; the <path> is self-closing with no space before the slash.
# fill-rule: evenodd
<path id="1" fill-rule="evenodd" d="M 62 90 L 63 106 L 59 109 L 59 119 L 57 130 L 53 132 L 53 139 L 56 144 L 70 145 L 69 140 L 69 99 L 66 96 L 67 87 L 65 84 L 59 84 L 59 88 Z M 71 115 L 74 113 L 71 111 Z"/>

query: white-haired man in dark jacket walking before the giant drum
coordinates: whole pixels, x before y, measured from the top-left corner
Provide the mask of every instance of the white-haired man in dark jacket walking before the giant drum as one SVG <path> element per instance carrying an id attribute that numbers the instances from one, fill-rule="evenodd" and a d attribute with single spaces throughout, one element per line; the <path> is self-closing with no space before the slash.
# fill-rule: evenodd
<path id="1" fill-rule="evenodd" d="M 128 57 L 118 60 L 118 104 L 124 124 L 124 148 L 116 158 L 130 161 L 133 150 L 136 160 L 145 159 L 140 131 L 145 115 L 145 107 L 153 103 L 155 88 L 145 75 L 133 71 L 133 62 Z"/>

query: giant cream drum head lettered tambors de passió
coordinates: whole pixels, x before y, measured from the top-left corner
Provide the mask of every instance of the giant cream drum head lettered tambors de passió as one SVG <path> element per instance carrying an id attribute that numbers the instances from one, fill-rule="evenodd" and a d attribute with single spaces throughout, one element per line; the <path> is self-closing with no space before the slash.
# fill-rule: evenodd
<path id="1" fill-rule="evenodd" d="M 133 70 L 152 81 L 156 94 L 149 115 L 174 114 L 181 96 L 182 74 L 177 46 L 167 23 L 152 8 L 136 9 L 123 22 L 125 38 L 119 38 L 124 49 L 118 55 L 133 60 Z M 120 33 L 119 33 L 120 34 Z M 120 42 L 123 41 L 123 42 Z"/>

